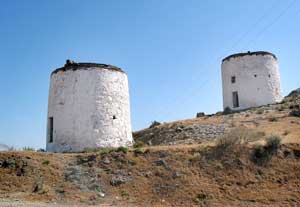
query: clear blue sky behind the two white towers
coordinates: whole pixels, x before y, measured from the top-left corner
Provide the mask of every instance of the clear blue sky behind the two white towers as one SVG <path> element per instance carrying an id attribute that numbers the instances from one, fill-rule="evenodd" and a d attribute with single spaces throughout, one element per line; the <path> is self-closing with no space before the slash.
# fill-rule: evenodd
<path id="1" fill-rule="evenodd" d="M 221 59 L 278 56 L 283 94 L 300 87 L 298 0 L 2 0 L 0 143 L 45 147 L 49 77 L 66 59 L 129 77 L 134 130 L 222 109 Z"/>

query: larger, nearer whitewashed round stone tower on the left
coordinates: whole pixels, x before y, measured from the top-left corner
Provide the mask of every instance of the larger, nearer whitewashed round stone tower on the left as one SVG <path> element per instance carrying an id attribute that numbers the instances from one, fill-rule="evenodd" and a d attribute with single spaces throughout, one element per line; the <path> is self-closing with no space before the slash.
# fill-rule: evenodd
<path id="1" fill-rule="evenodd" d="M 128 80 L 120 68 L 68 60 L 52 72 L 47 151 L 131 144 Z"/>

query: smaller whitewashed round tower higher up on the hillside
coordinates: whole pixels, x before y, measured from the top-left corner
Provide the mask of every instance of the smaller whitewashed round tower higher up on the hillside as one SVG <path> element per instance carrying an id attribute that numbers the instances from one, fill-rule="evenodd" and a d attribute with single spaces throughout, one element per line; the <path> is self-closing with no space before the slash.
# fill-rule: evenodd
<path id="1" fill-rule="evenodd" d="M 230 55 L 222 61 L 223 107 L 242 110 L 282 100 L 277 58 L 264 51 Z"/>

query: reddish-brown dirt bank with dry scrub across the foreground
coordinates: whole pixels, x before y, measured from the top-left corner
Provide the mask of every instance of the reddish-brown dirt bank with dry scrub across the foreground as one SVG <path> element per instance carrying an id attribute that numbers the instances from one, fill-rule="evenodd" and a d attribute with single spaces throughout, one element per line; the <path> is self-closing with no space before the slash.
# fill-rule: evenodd
<path id="1" fill-rule="evenodd" d="M 282 145 L 263 165 L 251 161 L 248 146 L 222 156 L 215 150 L 181 146 L 107 154 L 2 152 L 0 198 L 120 206 L 300 204 L 299 144 Z"/>

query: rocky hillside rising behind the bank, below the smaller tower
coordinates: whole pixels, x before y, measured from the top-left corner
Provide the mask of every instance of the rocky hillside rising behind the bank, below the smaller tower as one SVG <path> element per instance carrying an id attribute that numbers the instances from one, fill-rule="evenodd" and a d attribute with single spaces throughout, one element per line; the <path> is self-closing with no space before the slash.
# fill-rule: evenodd
<path id="1" fill-rule="evenodd" d="M 238 113 L 203 115 L 199 118 L 155 124 L 133 133 L 135 141 L 148 145 L 198 144 L 214 140 L 236 128 L 277 134 L 284 142 L 297 142 L 300 135 L 300 92 L 293 91 L 282 103 Z"/>

